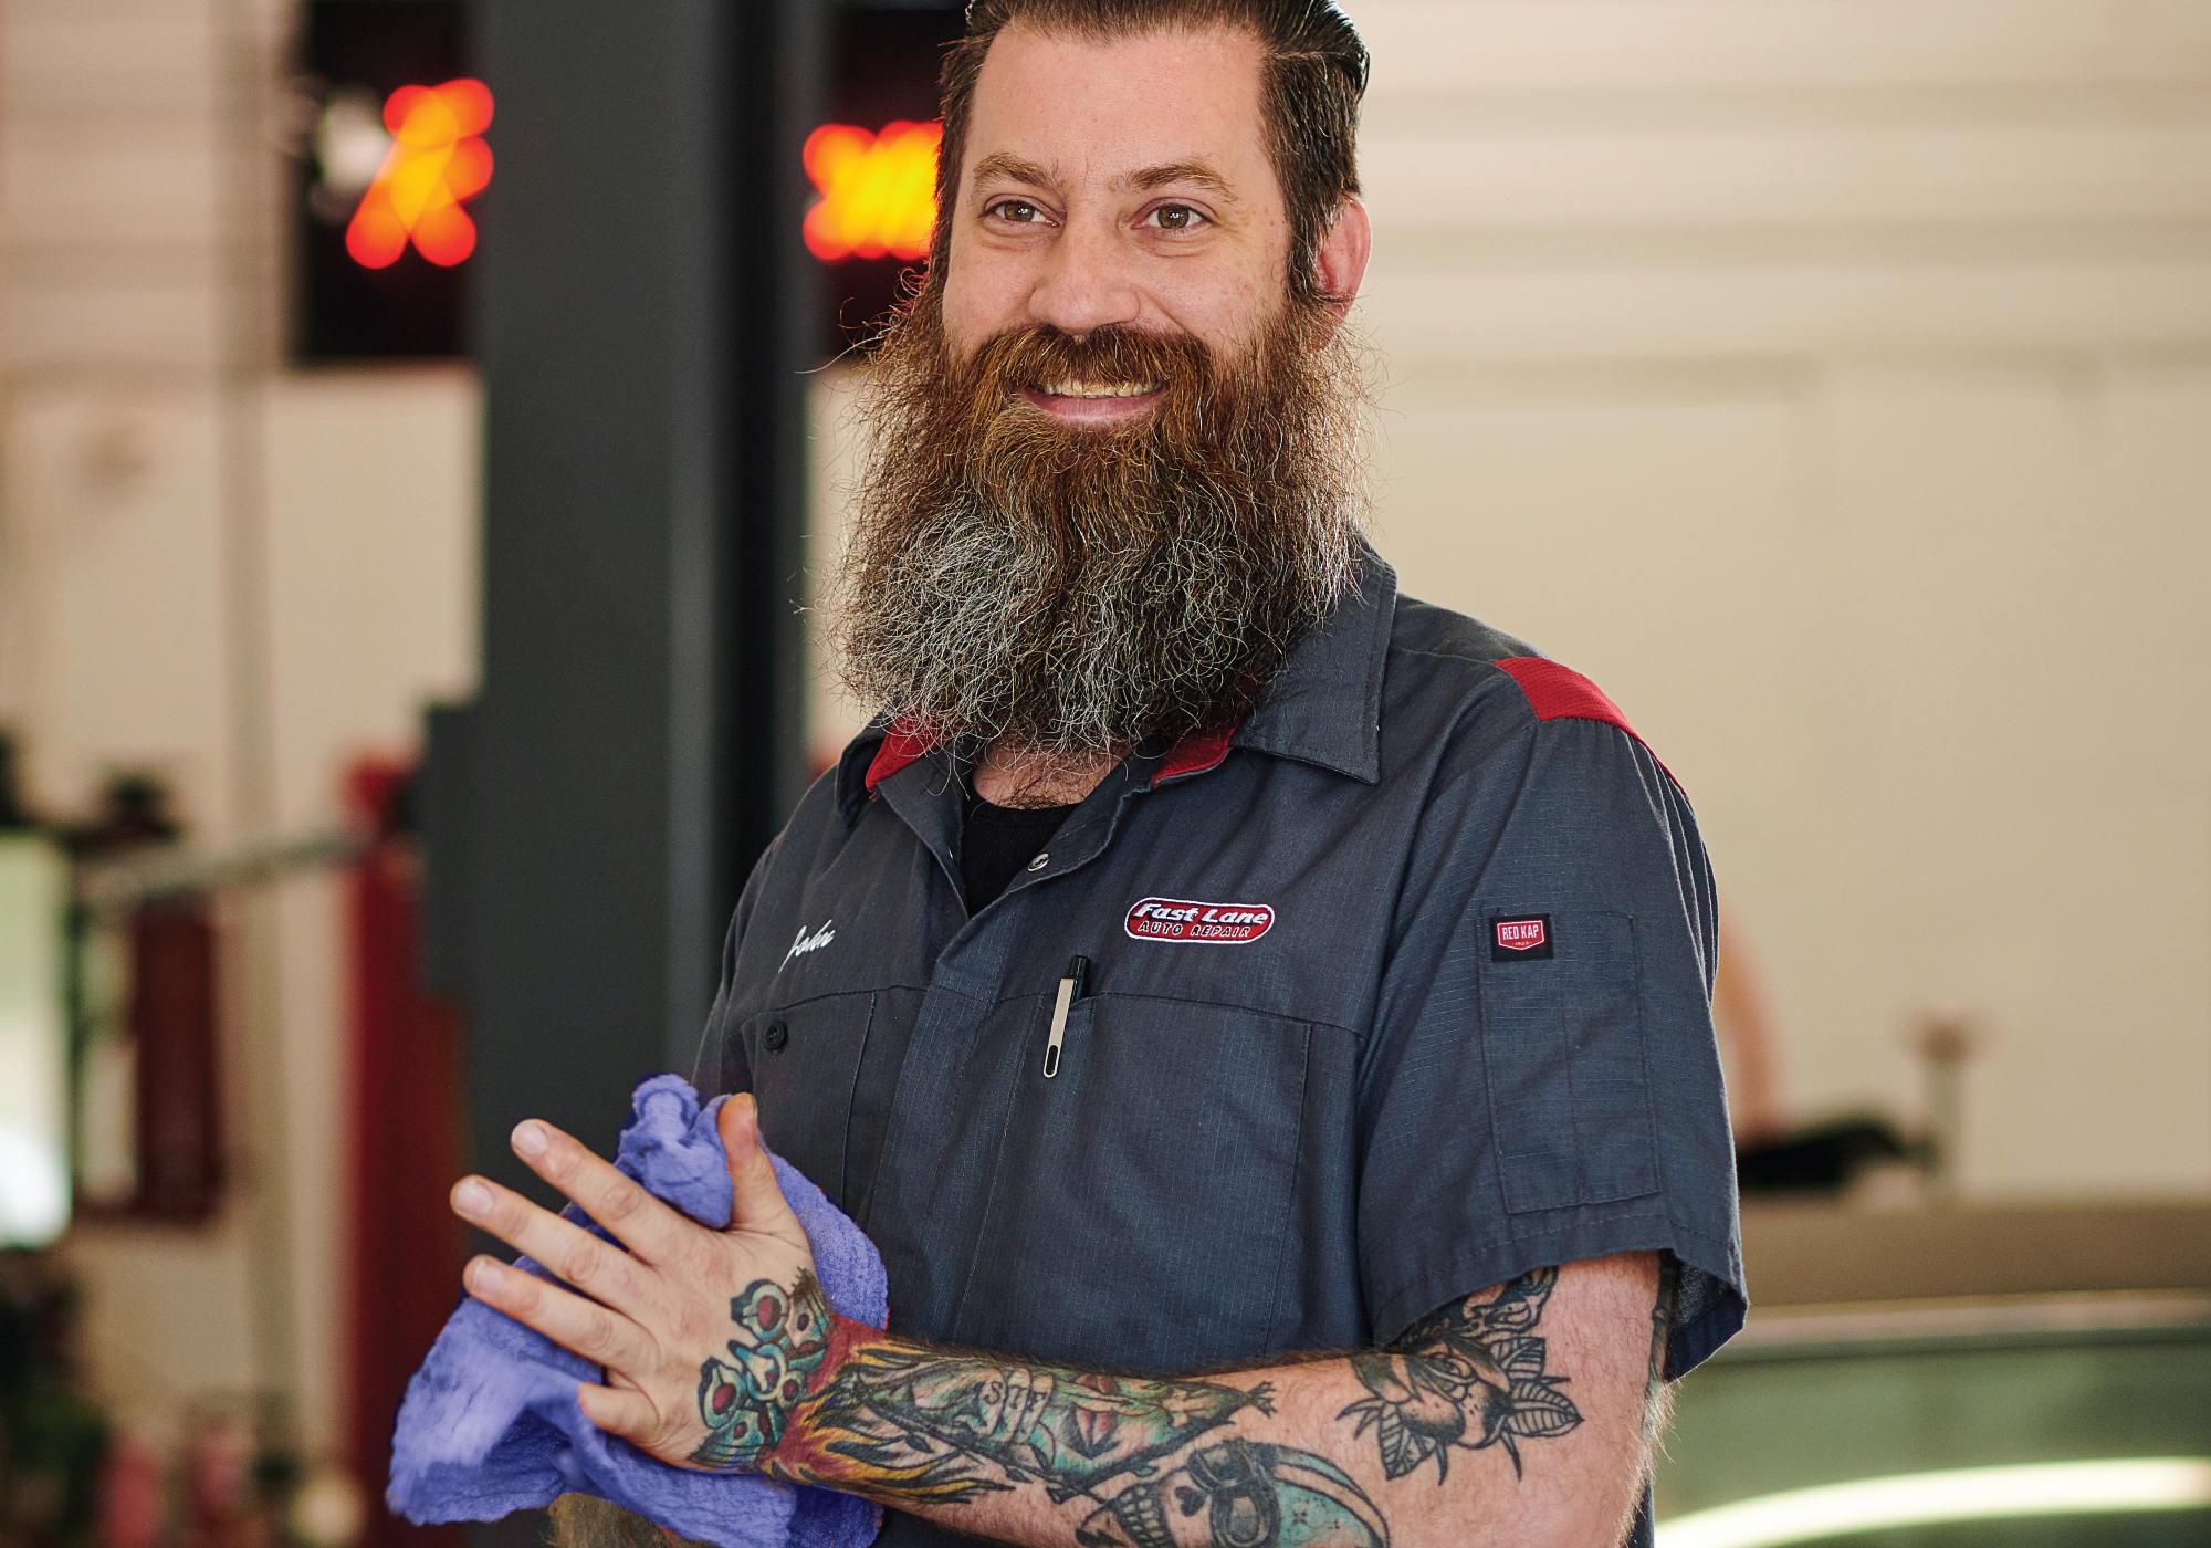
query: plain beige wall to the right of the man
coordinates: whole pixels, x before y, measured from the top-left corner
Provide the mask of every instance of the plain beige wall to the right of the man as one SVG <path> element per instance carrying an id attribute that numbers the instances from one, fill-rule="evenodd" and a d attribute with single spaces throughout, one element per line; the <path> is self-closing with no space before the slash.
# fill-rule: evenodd
<path id="1" fill-rule="evenodd" d="M 2211 7 L 1461 0 L 1375 53 L 1404 586 L 1698 805 L 1789 1106 L 2211 1190 Z"/>

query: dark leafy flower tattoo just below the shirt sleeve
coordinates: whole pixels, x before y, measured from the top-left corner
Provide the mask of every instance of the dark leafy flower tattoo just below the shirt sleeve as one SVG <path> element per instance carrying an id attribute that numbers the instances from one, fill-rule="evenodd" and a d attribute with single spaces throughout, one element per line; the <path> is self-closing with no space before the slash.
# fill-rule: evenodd
<path id="1" fill-rule="evenodd" d="M 1435 1457 L 1435 1482 L 1450 1471 L 1450 1448 L 1503 1446 L 1521 1475 L 1521 1440 L 1565 1435 L 1581 1409 L 1559 1391 L 1568 1378 L 1545 1369 L 1537 1336 L 1559 1269 L 1537 1269 L 1495 1296 L 1468 1296 L 1433 1311 L 1389 1349 L 1351 1356 L 1366 1384 L 1338 1418 L 1358 1415 L 1358 1435 L 1375 1433 L 1382 1475 L 1404 1477 Z"/>

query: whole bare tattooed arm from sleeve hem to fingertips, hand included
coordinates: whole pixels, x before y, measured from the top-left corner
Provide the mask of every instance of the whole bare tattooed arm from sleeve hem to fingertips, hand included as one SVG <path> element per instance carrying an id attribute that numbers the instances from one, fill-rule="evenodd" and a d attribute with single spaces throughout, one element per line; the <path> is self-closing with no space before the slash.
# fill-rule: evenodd
<path id="1" fill-rule="evenodd" d="M 604 1362 L 608 1384 L 579 1393 L 586 1413 L 670 1462 L 1079 1548 L 1610 1548 L 1641 1491 L 1665 1316 L 1656 1254 L 1526 1274 L 1389 1349 L 1130 1378 L 834 1318 L 750 1101 L 723 1117 L 730 1154 L 754 1165 L 732 1163 L 738 1218 L 719 1234 L 542 1134 L 524 1159 L 630 1252 L 471 1179 L 484 1203 L 462 1183 L 462 1214 L 593 1300 L 489 1261 L 469 1287 Z"/>

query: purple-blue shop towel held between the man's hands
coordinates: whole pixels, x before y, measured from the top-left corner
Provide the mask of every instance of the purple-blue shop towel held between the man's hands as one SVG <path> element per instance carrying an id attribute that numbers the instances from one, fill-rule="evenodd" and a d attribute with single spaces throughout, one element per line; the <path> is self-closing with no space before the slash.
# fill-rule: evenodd
<path id="1" fill-rule="evenodd" d="M 703 1225 L 727 1225 L 734 1190 L 705 1108 L 681 1075 L 657 1075 L 630 1099 L 615 1165 Z M 820 1188 L 776 1163 L 776 1181 L 814 1245 L 814 1272 L 838 1316 L 882 1327 L 889 1291 L 876 1245 Z M 566 1218 L 608 1232 L 568 1205 Z M 522 1258 L 517 1267 L 544 1274 Z M 438 1333 L 407 1384 L 391 1437 L 385 1504 L 425 1521 L 493 1521 L 581 1491 L 681 1537 L 721 1548 L 862 1548 L 882 1508 L 858 1495 L 778 1484 L 756 1473 L 696 1473 L 654 1462 L 575 1406 L 575 1384 L 604 1371 L 473 1296 Z"/>

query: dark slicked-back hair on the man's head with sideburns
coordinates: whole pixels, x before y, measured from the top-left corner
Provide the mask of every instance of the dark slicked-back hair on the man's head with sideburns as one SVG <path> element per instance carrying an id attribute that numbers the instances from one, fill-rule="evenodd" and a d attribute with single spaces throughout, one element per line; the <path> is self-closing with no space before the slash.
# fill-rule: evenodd
<path id="1" fill-rule="evenodd" d="M 966 38 L 944 55 L 944 146 L 937 153 L 937 230 L 929 268 L 942 276 L 951 212 L 960 201 L 975 80 L 991 42 L 1010 22 L 1108 42 L 1165 29 L 1227 27 L 1260 46 L 1260 108 L 1267 148 L 1289 212 L 1289 283 L 1318 299 L 1313 259 L 1335 210 L 1360 190 L 1360 97 L 1366 44 L 1331 0 L 971 0 Z"/>

